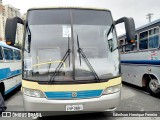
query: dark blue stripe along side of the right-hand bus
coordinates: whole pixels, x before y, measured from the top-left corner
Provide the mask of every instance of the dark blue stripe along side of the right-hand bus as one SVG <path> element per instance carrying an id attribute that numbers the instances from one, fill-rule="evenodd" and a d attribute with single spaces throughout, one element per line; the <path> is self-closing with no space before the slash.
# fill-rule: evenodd
<path id="1" fill-rule="evenodd" d="M 160 60 L 122 60 L 121 63 L 160 65 Z"/>

